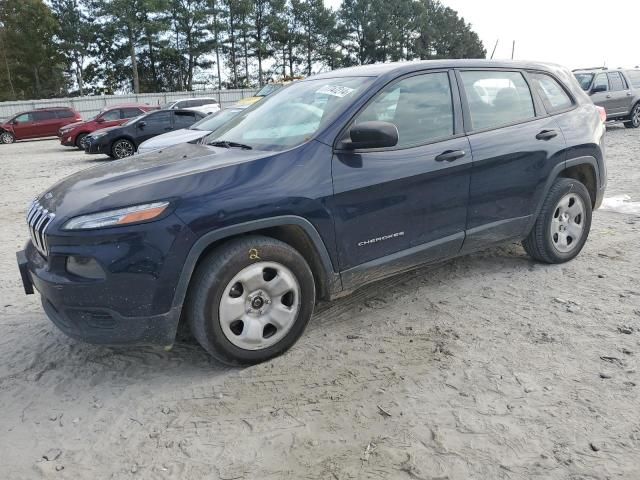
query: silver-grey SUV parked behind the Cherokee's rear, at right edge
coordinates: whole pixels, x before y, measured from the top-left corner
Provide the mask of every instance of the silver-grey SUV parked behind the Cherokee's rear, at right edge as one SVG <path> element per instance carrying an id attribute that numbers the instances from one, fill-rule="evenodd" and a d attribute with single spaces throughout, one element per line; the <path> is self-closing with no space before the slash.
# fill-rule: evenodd
<path id="1" fill-rule="evenodd" d="M 574 75 L 593 103 L 607 111 L 608 121 L 640 127 L 640 70 L 592 68 Z"/>

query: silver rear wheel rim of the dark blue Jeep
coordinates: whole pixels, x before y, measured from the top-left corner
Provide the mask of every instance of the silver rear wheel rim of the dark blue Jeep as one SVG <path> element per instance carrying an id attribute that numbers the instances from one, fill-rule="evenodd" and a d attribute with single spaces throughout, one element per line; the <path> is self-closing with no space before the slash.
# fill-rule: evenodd
<path id="1" fill-rule="evenodd" d="M 560 199 L 551 219 L 551 243 L 561 253 L 574 250 L 584 234 L 585 206 L 582 198 L 568 193 Z"/>

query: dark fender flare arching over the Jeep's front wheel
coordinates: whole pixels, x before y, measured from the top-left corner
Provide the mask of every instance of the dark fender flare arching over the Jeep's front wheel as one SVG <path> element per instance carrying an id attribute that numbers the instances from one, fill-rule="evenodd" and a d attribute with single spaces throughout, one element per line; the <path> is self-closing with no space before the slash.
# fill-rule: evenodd
<path id="1" fill-rule="evenodd" d="M 198 263 L 198 260 L 200 259 L 202 253 L 214 242 L 224 240 L 226 238 L 231 238 L 243 233 L 263 230 L 265 228 L 291 225 L 302 228 L 311 240 L 320 259 L 323 270 L 322 273 L 325 277 L 324 279 L 320 280 L 327 282 L 327 287 L 331 292 L 341 291 L 342 284 L 340 282 L 340 274 L 334 270 L 333 264 L 331 262 L 331 257 L 329 256 L 329 251 L 327 250 L 322 237 L 320 237 L 320 234 L 313 226 L 313 224 L 307 219 L 298 217 L 296 215 L 281 215 L 260 220 L 252 220 L 249 222 L 220 228 L 212 232 L 205 233 L 198 240 L 196 240 L 196 242 L 189 250 L 187 258 L 184 262 L 184 266 L 182 267 L 182 271 L 180 272 L 180 278 L 173 295 L 172 308 L 181 307 L 184 304 L 189 283 L 191 282 L 196 264 Z"/>

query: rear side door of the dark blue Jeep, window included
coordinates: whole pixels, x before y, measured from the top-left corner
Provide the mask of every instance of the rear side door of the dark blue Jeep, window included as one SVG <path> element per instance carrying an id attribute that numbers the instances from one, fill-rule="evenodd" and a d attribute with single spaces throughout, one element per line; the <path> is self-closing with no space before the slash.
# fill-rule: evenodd
<path id="1" fill-rule="evenodd" d="M 565 141 L 525 72 L 479 69 L 457 75 L 473 154 L 463 247 L 469 252 L 522 238 L 549 173 L 564 160 Z"/>

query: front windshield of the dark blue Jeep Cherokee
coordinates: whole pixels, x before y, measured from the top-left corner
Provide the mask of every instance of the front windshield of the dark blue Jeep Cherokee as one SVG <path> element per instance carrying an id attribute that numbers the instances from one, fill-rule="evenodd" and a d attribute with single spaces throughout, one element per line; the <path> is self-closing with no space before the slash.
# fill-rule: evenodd
<path id="1" fill-rule="evenodd" d="M 342 77 L 292 83 L 269 95 L 209 136 L 207 143 L 233 142 L 281 151 L 312 138 L 373 82 Z"/>

